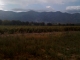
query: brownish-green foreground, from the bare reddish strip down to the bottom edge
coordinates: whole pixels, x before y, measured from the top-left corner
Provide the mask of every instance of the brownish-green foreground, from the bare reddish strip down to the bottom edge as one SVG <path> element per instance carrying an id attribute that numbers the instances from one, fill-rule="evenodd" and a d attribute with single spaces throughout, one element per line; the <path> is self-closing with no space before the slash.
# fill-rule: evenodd
<path id="1" fill-rule="evenodd" d="M 80 32 L 0 36 L 0 60 L 80 60 Z"/>

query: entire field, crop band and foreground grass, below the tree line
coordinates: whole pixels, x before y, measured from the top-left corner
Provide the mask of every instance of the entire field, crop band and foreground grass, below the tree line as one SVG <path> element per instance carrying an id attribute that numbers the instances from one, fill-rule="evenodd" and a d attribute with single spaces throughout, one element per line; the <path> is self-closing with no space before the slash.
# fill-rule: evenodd
<path id="1" fill-rule="evenodd" d="M 80 60 L 80 26 L 0 26 L 0 60 Z"/>

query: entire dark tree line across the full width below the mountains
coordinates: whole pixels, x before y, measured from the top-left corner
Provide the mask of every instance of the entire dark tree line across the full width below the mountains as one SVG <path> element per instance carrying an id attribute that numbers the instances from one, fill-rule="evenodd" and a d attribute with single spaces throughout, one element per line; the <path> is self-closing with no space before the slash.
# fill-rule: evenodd
<path id="1" fill-rule="evenodd" d="M 45 23 L 45 22 L 28 22 L 28 21 L 20 21 L 20 20 L 0 20 L 0 25 L 27 25 L 27 26 L 80 26 L 78 24 L 61 24 L 61 23 Z"/>

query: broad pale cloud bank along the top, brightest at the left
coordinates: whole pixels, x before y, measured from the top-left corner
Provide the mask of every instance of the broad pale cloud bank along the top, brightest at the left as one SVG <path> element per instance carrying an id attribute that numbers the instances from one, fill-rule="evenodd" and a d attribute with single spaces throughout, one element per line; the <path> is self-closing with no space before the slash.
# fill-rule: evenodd
<path id="1" fill-rule="evenodd" d="M 0 9 L 8 9 L 9 7 L 7 7 L 7 5 L 10 4 L 26 8 L 26 6 L 29 6 L 30 4 L 65 4 L 75 1 L 77 0 L 0 0 Z"/>

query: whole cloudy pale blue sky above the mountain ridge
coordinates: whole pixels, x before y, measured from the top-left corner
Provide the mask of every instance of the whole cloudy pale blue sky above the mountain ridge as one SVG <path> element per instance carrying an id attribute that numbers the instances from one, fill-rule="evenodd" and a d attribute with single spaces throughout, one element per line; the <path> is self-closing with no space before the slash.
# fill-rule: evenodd
<path id="1" fill-rule="evenodd" d="M 0 0 L 0 10 L 80 12 L 80 0 Z"/>

